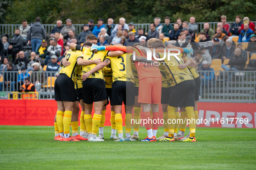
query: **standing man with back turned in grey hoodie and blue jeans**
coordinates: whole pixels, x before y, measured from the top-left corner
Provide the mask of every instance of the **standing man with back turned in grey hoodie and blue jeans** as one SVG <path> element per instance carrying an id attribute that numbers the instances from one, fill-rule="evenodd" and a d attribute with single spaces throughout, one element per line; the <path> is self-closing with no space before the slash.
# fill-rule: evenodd
<path id="1" fill-rule="evenodd" d="M 36 17 L 36 22 L 29 28 L 28 43 L 32 46 L 32 51 L 36 52 L 42 43 L 42 39 L 46 38 L 45 28 L 41 25 L 40 17 Z"/>

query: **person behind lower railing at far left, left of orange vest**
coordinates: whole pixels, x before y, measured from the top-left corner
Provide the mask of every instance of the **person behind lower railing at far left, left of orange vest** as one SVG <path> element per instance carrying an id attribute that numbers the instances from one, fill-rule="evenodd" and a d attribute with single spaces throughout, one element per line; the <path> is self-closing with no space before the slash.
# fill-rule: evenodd
<path id="1" fill-rule="evenodd" d="M 0 91 L 4 91 L 3 88 L 7 87 L 7 91 L 8 90 L 8 86 L 10 85 L 10 91 L 14 91 L 15 87 L 16 87 L 16 81 L 17 81 L 17 72 L 18 69 L 16 69 L 15 67 L 13 67 L 13 64 L 11 62 L 8 62 L 6 64 L 6 68 L 7 71 L 12 71 L 12 72 L 4 72 L 3 73 L 3 81 L 0 83 Z"/>

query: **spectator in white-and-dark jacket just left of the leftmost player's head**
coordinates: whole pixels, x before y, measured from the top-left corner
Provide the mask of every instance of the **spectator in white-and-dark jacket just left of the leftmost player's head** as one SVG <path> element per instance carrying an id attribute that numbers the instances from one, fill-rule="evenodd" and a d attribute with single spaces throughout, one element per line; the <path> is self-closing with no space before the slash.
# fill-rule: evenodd
<path id="1" fill-rule="evenodd" d="M 72 31 L 72 30 L 70 30 L 70 31 Z M 45 57 L 45 65 L 48 64 L 48 60 L 52 57 L 52 55 L 56 55 L 56 56 L 60 57 L 60 55 L 62 54 L 62 46 L 57 44 L 56 39 L 50 40 L 50 46 L 48 47 L 46 54 L 47 55 Z"/>

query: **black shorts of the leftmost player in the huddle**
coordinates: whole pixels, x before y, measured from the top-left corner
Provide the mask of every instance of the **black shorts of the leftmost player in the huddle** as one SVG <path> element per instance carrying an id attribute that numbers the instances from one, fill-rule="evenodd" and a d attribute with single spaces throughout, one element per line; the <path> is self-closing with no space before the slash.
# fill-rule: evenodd
<path id="1" fill-rule="evenodd" d="M 78 101 L 75 85 L 71 78 L 60 74 L 54 83 L 55 101 Z"/>

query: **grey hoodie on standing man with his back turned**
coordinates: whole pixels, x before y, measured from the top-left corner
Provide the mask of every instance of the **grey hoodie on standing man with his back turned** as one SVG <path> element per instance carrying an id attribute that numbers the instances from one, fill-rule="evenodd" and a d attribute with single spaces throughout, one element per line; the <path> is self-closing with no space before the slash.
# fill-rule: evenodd
<path id="1" fill-rule="evenodd" d="M 35 22 L 33 25 L 31 25 L 27 39 L 46 39 L 45 28 L 41 25 L 40 22 Z"/>

